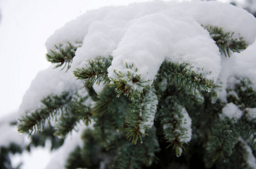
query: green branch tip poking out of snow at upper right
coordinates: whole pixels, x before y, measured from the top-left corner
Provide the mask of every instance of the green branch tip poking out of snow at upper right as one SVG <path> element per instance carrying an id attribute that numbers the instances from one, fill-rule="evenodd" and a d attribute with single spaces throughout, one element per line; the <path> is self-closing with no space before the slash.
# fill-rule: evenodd
<path id="1" fill-rule="evenodd" d="M 234 32 L 224 32 L 223 28 L 212 25 L 203 27 L 208 30 L 211 38 L 214 39 L 216 45 L 219 47 L 220 51 L 224 53 L 225 57 L 227 57 L 227 55 L 230 57 L 229 50 L 239 53 L 248 46 L 243 37 L 234 38 Z"/>

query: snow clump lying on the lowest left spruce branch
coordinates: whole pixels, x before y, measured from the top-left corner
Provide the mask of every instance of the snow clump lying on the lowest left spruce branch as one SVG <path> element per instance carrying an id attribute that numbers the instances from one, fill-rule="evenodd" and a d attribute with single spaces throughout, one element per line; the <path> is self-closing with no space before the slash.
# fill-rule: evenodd
<path id="1" fill-rule="evenodd" d="M 29 90 L 23 96 L 18 114 L 41 108 L 41 100 L 49 95 L 61 95 L 65 91 L 75 94 L 74 92 L 81 90 L 83 86 L 83 81 L 77 80 L 72 71 L 60 71 L 60 68 L 53 69 L 53 66 L 50 66 L 39 72 L 32 81 Z"/>

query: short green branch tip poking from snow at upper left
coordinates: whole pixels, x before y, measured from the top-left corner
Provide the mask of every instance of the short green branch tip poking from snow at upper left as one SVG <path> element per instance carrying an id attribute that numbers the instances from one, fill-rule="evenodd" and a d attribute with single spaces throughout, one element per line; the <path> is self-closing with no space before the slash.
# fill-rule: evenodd
<path id="1" fill-rule="evenodd" d="M 81 43 L 77 43 L 76 45 L 80 47 Z M 46 54 L 46 59 L 51 63 L 59 63 L 55 66 L 55 68 L 58 68 L 64 64 L 62 68 L 64 69 L 68 64 L 68 70 L 71 67 L 70 63 L 72 63 L 73 57 L 75 57 L 77 46 L 73 46 L 70 42 L 68 42 L 66 46 L 63 46 L 62 43 L 59 43 L 59 46 L 55 45 L 56 50 L 50 50 L 50 52 Z"/>

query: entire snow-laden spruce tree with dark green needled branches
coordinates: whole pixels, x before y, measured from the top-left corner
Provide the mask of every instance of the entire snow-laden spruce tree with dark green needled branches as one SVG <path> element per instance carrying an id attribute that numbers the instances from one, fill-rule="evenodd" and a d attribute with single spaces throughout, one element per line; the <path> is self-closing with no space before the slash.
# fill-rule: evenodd
<path id="1" fill-rule="evenodd" d="M 25 94 L 19 132 L 64 139 L 47 168 L 255 168 L 255 28 L 219 2 L 86 12 L 47 40 L 57 65 Z"/>

